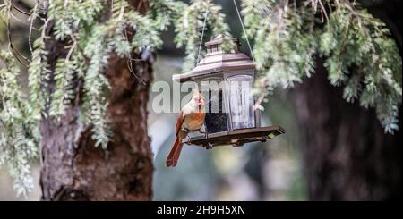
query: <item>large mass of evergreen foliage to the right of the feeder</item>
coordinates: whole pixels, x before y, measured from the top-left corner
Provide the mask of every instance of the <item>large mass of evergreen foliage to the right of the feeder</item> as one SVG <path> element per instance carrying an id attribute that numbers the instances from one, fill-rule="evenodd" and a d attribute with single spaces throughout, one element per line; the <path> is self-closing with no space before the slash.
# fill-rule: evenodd
<path id="1" fill-rule="evenodd" d="M 243 8 L 259 93 L 312 77 L 319 55 L 347 102 L 374 107 L 386 133 L 399 129 L 401 57 L 382 21 L 347 0 L 244 0 Z"/>

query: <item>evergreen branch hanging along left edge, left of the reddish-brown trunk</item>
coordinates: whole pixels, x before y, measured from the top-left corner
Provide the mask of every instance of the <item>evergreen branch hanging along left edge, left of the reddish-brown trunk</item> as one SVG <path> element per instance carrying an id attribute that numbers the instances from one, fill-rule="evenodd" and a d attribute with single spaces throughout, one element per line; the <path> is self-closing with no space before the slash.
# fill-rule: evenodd
<path id="1" fill-rule="evenodd" d="M 39 154 L 39 126 L 20 86 L 19 66 L 6 50 L 0 58 L 4 61 L 0 69 L 0 164 L 13 177 L 17 195 L 25 195 L 33 188 L 29 162 Z"/>

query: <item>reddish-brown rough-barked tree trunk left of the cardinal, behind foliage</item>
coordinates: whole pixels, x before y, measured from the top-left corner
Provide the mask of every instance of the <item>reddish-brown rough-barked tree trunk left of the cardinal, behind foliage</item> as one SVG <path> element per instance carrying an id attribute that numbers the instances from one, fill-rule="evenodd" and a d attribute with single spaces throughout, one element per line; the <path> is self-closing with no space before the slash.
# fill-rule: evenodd
<path id="1" fill-rule="evenodd" d="M 145 1 L 131 1 L 144 13 Z M 49 32 L 50 36 L 52 34 Z M 65 55 L 64 45 L 47 41 L 50 70 L 56 59 Z M 136 58 L 136 55 L 133 55 Z M 105 72 L 111 89 L 108 114 L 114 132 L 106 150 L 94 147 L 91 127 L 80 122 L 80 95 L 60 119 L 43 119 L 42 169 L 40 186 L 43 200 L 150 200 L 153 164 L 147 133 L 147 102 L 152 70 L 150 61 L 134 62 L 133 77 L 126 60 L 109 58 Z"/>

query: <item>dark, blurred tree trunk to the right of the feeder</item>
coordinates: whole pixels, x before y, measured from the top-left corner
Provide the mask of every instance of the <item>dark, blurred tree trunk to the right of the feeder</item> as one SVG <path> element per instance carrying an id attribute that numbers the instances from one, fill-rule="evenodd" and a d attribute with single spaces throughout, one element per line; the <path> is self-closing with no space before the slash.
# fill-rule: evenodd
<path id="1" fill-rule="evenodd" d="M 402 131 L 385 134 L 374 110 L 348 104 L 342 91 L 330 85 L 322 64 L 292 91 L 309 198 L 401 198 Z"/>

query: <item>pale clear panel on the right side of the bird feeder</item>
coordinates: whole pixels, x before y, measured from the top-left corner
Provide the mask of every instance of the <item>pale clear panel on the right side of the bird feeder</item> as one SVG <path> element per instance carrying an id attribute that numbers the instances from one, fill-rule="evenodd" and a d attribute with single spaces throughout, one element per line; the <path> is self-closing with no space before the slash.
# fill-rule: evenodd
<path id="1" fill-rule="evenodd" d="M 255 127 L 253 111 L 253 76 L 236 75 L 227 79 L 232 129 Z"/>

